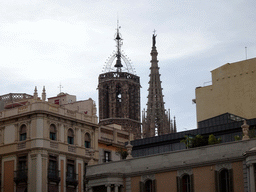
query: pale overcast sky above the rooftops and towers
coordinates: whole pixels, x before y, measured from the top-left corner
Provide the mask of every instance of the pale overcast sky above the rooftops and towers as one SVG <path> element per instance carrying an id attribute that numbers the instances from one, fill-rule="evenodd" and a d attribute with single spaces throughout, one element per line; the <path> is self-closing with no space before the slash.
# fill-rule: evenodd
<path id="1" fill-rule="evenodd" d="M 255 0 L 0 0 L 0 95 L 63 92 L 97 103 L 98 75 L 115 50 L 117 15 L 122 50 L 141 78 L 146 107 L 152 34 L 156 29 L 165 107 L 178 131 L 196 128 L 195 88 L 210 71 L 256 56 Z M 209 83 L 207 84 L 209 85 Z"/>

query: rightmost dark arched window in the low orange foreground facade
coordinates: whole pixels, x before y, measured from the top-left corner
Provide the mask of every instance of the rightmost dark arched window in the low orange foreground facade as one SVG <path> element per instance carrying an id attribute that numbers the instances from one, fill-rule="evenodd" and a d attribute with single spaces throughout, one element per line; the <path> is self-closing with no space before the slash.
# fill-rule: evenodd
<path id="1" fill-rule="evenodd" d="M 233 170 L 224 168 L 219 171 L 215 171 L 215 184 L 217 192 L 232 192 Z"/>

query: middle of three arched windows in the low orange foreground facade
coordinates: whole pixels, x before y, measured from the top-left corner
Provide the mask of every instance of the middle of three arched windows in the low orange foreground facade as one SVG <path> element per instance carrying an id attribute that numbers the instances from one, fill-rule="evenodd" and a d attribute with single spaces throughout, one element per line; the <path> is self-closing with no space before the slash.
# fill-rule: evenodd
<path id="1" fill-rule="evenodd" d="M 177 177 L 178 192 L 194 192 L 193 174 L 185 173 Z"/>

